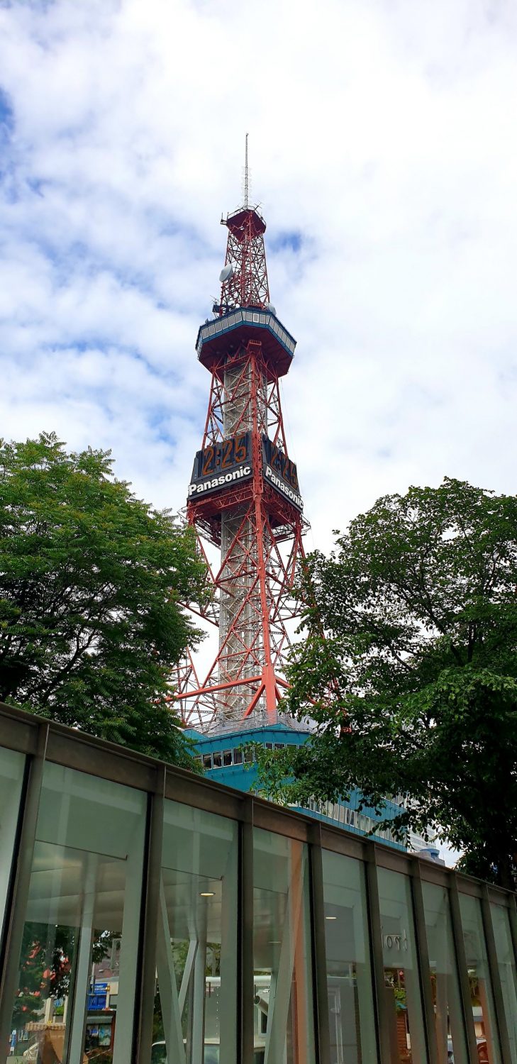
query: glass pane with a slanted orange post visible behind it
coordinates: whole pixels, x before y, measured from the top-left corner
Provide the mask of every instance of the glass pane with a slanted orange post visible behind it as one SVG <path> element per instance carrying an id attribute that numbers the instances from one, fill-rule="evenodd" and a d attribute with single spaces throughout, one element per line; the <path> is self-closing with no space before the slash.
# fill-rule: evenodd
<path id="1" fill-rule="evenodd" d="M 314 1064 L 307 848 L 253 837 L 254 1064 Z"/>

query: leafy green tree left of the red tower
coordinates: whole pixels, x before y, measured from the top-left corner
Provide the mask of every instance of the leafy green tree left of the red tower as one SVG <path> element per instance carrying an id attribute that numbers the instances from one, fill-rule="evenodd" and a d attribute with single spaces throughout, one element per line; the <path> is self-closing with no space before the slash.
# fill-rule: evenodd
<path id="1" fill-rule="evenodd" d="M 118 481 L 109 451 L 0 440 L 0 699 L 167 761 L 194 762 L 168 678 L 200 633 L 190 529 Z"/>

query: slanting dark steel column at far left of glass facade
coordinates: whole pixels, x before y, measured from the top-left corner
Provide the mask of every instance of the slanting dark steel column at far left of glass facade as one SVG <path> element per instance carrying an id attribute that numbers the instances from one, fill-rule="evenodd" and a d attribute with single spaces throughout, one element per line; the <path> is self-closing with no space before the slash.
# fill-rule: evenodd
<path id="1" fill-rule="evenodd" d="M 5 915 L 5 953 L 0 978 L 0 1046 L 7 1046 L 11 1035 L 14 996 L 18 984 L 18 970 L 27 902 L 31 881 L 34 842 L 36 837 L 37 813 L 47 752 L 49 726 L 40 725 L 37 733 L 36 752 L 29 766 L 23 802 L 18 853 L 15 854 L 16 874 L 10 912 Z"/>

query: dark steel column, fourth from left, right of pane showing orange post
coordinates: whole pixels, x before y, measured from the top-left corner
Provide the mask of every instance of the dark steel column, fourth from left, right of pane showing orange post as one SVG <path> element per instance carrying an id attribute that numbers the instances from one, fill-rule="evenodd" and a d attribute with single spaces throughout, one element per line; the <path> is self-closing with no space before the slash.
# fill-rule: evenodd
<path id="1" fill-rule="evenodd" d="M 316 820 L 308 847 L 311 875 L 311 929 L 313 938 L 313 983 L 316 1060 L 330 1064 L 329 996 L 324 944 L 323 861 L 321 825 Z"/>

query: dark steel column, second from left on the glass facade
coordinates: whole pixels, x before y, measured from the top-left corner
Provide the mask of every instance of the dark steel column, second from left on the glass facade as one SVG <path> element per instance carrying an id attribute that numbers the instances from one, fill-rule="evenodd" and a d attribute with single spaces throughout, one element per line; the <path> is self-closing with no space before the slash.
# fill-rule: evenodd
<path id="1" fill-rule="evenodd" d="M 160 910 L 160 879 L 162 874 L 162 842 L 164 833 L 165 765 L 157 770 L 156 791 L 149 795 L 150 811 L 145 855 L 144 893 L 140 940 L 141 965 L 137 986 L 138 1012 L 136 1020 L 136 1064 L 149 1064 L 151 1059 L 154 995 L 156 987 L 156 933 Z"/>

